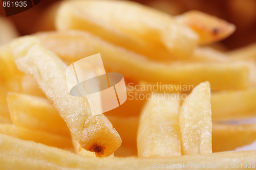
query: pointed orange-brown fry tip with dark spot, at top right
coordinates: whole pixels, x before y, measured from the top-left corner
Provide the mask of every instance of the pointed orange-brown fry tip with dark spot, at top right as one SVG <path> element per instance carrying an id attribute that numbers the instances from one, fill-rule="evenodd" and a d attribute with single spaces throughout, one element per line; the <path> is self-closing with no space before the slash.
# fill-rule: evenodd
<path id="1" fill-rule="evenodd" d="M 193 29 L 199 35 L 200 44 L 222 40 L 236 29 L 231 23 L 200 11 L 186 12 L 176 16 L 176 20 Z"/>

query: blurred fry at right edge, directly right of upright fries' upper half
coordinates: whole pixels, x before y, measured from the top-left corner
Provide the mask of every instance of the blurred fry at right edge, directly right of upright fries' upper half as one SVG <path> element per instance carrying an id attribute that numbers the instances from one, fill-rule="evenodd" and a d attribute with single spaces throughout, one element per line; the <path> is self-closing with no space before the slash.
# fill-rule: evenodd
<path id="1" fill-rule="evenodd" d="M 220 91 L 211 95 L 212 119 L 238 119 L 256 115 L 256 88 Z"/>

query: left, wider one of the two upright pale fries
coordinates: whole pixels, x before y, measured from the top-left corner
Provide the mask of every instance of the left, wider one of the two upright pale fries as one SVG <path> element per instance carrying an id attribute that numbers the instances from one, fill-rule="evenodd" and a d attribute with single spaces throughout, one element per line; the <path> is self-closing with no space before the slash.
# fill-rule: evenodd
<path id="1" fill-rule="evenodd" d="M 139 157 L 181 155 L 178 96 L 148 101 L 141 113 L 137 148 Z"/>

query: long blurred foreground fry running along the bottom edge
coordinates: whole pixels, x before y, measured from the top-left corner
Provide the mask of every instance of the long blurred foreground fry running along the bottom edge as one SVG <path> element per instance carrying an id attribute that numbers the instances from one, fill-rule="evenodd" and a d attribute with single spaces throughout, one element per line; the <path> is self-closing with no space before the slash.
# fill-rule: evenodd
<path id="1" fill-rule="evenodd" d="M 84 157 L 57 149 L 48 147 L 44 144 L 35 143 L 13 138 L 6 135 L 0 135 L 0 168 L 1 169 L 138 169 L 148 170 L 157 167 L 192 169 L 193 165 L 199 164 L 205 167 L 212 165 L 211 169 L 221 169 L 224 165 L 236 162 L 238 164 L 250 163 L 256 161 L 256 151 L 246 152 L 222 152 L 204 155 L 185 155 L 171 158 L 93 158 Z M 253 166 L 252 166 L 253 167 Z M 244 169 L 239 167 L 236 169 Z"/>

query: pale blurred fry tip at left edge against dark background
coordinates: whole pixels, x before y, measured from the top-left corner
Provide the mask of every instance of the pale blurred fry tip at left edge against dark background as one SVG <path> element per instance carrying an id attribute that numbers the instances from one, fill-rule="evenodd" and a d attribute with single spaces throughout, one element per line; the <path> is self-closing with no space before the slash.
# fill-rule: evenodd
<path id="1" fill-rule="evenodd" d="M 0 16 L 0 45 L 18 36 L 18 32 L 11 21 Z"/>

